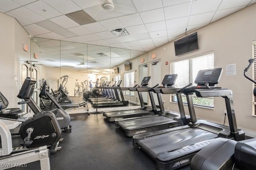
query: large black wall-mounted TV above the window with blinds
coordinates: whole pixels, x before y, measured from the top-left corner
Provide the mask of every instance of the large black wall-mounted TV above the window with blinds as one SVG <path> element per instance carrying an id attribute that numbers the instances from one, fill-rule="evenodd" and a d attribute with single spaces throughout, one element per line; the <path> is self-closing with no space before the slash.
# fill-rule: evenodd
<path id="1" fill-rule="evenodd" d="M 175 55 L 180 55 L 198 49 L 197 32 L 174 42 Z"/>

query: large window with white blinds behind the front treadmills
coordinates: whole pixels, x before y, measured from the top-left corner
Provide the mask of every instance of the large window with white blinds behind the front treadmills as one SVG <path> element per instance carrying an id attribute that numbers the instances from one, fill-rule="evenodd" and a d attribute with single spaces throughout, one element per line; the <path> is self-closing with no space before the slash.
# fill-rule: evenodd
<path id="1" fill-rule="evenodd" d="M 202 69 L 212 69 L 214 68 L 214 53 L 208 53 L 198 57 L 193 57 L 190 59 L 184 59 L 180 61 L 174 61 L 170 64 L 171 74 L 178 74 L 175 82 L 175 87 L 184 87 L 188 83 L 194 83 L 196 75 L 199 70 Z M 186 96 L 182 96 L 184 103 L 187 103 Z M 172 95 L 172 102 L 177 102 L 176 96 Z M 194 105 L 204 106 L 204 107 L 214 107 L 214 98 L 198 98 L 196 95 L 193 96 Z"/>

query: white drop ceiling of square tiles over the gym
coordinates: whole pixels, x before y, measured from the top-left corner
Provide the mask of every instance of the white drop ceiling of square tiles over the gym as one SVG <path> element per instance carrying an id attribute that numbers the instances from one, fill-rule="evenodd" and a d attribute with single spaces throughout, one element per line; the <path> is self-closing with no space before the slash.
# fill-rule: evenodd
<path id="1" fill-rule="evenodd" d="M 0 12 L 16 18 L 34 37 L 150 51 L 175 40 L 185 32 L 197 30 L 256 2 L 256 0 L 113 0 L 114 10 L 109 12 L 102 8 L 104 1 L 0 0 Z M 77 16 L 76 12 L 80 14 L 82 12 L 87 20 L 82 22 L 72 20 L 70 14 L 74 13 L 73 16 Z M 119 28 L 125 28 L 130 35 L 116 37 L 111 33 L 112 30 Z M 102 53 L 100 50 L 98 52 Z M 113 53 L 114 55 L 116 53 Z M 135 57 L 136 55 L 141 53 L 134 54 Z M 79 57 L 79 62 L 82 62 L 81 56 L 75 57 Z"/>

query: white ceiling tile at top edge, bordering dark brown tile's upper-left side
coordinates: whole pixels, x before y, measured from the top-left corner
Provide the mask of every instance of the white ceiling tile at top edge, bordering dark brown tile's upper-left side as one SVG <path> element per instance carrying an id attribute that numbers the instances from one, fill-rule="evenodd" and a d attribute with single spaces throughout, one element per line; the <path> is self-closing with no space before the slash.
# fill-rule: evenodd
<path id="1" fill-rule="evenodd" d="M 68 14 L 71 12 L 79 11 L 79 8 L 74 2 L 71 0 L 42 0 L 46 4 L 52 6 L 62 14 Z"/>

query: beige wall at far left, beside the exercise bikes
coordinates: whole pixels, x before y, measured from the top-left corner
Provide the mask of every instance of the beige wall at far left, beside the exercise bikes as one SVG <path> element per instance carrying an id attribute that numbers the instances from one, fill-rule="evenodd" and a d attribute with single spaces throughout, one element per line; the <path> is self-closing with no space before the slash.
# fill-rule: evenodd
<path id="1" fill-rule="evenodd" d="M 23 44 L 30 49 L 28 33 L 12 17 L 0 12 L 0 91 L 9 101 L 9 107 L 18 107 L 19 81 L 14 76 L 18 72 L 19 57 L 30 59 L 30 52 L 23 50 Z M 16 85 L 17 83 L 17 85 Z"/>

